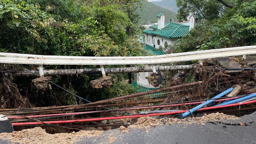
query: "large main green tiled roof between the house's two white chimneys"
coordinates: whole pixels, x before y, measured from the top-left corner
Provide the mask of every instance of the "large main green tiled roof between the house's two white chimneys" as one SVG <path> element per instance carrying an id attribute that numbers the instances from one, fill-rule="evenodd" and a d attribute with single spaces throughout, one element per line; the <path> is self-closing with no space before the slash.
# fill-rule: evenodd
<path id="1" fill-rule="evenodd" d="M 157 35 L 168 39 L 182 38 L 188 34 L 189 26 L 170 22 L 163 29 L 158 30 L 144 30 L 143 33 L 150 35 Z"/>

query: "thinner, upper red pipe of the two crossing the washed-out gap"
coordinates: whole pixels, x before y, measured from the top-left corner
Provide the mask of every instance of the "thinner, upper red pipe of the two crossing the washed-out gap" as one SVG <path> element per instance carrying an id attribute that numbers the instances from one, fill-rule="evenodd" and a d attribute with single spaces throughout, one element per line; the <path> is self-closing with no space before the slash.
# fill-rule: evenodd
<path id="1" fill-rule="evenodd" d="M 231 99 L 236 99 L 236 98 L 240 98 L 242 96 L 239 97 L 232 97 L 232 98 L 226 98 L 226 99 L 219 99 L 219 100 L 215 100 L 214 102 L 218 102 L 218 101 L 226 101 L 226 100 L 231 100 Z M 191 105 L 191 104 L 201 104 L 205 101 L 202 102 L 192 102 L 192 103 L 184 103 L 184 105 Z M 118 110 L 110 110 L 110 111 L 125 111 L 125 110 L 138 110 L 138 109 L 149 109 L 149 108 L 162 108 L 162 107 L 171 107 L 171 106 L 181 106 L 183 104 L 173 104 L 173 105 L 162 105 L 162 106 L 147 106 L 147 107 L 138 107 L 138 108 L 128 108 L 128 109 L 118 109 Z M 75 112 L 75 113 L 61 113 L 61 114 L 48 114 L 48 115 L 33 115 L 33 116 L 26 116 L 26 117 L 48 117 L 48 116 L 65 116 L 65 115 L 72 115 L 72 114 L 87 114 L 87 113 L 98 113 L 98 112 L 104 112 L 104 111 L 89 111 L 89 112 Z M 26 118 L 26 117 L 21 117 L 21 116 L 11 116 L 8 117 L 8 119 L 17 119 L 17 118 Z"/>

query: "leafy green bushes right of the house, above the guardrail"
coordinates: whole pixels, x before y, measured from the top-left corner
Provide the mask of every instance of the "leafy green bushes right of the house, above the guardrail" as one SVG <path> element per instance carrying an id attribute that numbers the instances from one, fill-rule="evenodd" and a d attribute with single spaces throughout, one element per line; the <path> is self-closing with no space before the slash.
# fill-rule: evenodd
<path id="1" fill-rule="evenodd" d="M 247 46 L 256 43 L 256 1 L 234 1 L 223 17 L 206 20 L 174 45 L 175 52 Z"/>

